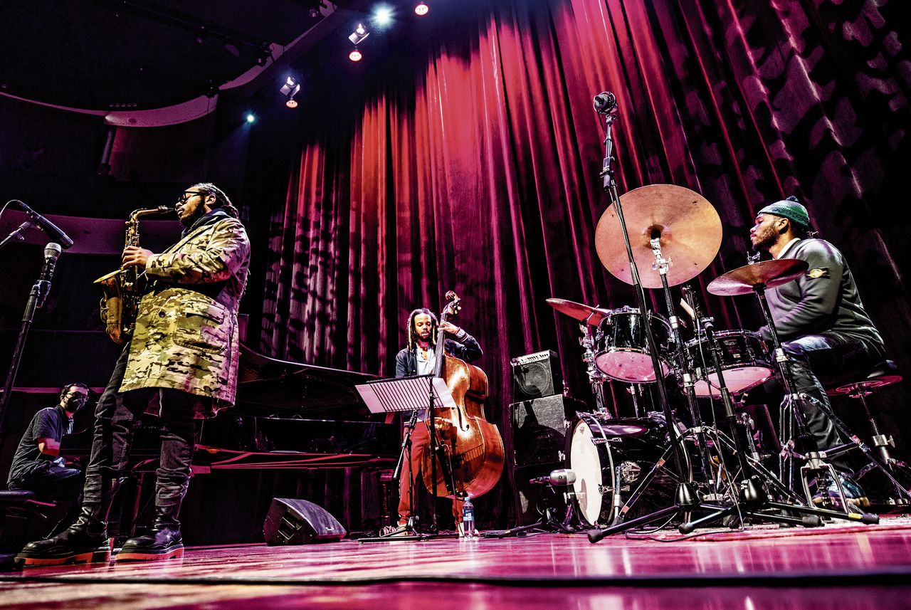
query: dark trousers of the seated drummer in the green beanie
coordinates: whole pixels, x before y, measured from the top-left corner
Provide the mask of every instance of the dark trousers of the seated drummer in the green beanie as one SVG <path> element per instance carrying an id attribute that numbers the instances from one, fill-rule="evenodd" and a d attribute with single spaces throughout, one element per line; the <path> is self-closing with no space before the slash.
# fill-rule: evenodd
<path id="1" fill-rule="evenodd" d="M 804 335 L 783 341 L 782 347 L 791 358 L 793 391 L 804 393 L 830 409 L 825 387 L 853 381 L 885 360 L 885 351 L 881 346 L 835 332 Z M 765 390 L 768 397 L 777 396 L 779 400 L 783 397 L 778 381 L 767 381 Z M 814 402 L 804 402 L 802 412 L 818 449 L 828 449 L 845 442 L 835 430 L 832 420 Z M 844 455 L 831 462 L 837 470 L 851 470 Z"/>

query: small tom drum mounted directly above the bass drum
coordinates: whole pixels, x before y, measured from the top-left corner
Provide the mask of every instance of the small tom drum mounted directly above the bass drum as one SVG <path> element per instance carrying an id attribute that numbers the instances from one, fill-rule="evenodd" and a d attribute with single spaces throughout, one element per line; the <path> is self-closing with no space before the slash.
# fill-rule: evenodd
<path id="1" fill-rule="evenodd" d="M 658 345 L 661 377 L 670 373 L 671 333 L 670 324 L 657 313 L 649 314 L 651 332 Z M 611 310 L 599 328 L 599 346 L 595 352 L 595 366 L 611 379 L 628 383 L 655 381 L 655 368 L 651 364 L 649 340 L 645 336 L 640 310 L 621 307 Z"/>

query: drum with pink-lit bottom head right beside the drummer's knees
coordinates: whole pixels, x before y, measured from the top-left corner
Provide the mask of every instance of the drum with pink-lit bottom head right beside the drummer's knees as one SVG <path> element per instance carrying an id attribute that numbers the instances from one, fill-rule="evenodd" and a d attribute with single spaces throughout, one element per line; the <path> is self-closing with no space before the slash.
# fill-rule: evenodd
<path id="1" fill-rule="evenodd" d="M 750 390 L 772 377 L 772 358 L 765 341 L 748 330 L 722 330 L 715 333 L 720 348 L 719 363 L 722 365 L 724 382 L 728 391 L 738 394 Z M 686 343 L 687 358 L 696 370 L 695 391 L 697 396 L 720 397 L 718 373 L 715 371 L 705 337 Z M 708 382 L 706 381 L 708 378 Z"/>

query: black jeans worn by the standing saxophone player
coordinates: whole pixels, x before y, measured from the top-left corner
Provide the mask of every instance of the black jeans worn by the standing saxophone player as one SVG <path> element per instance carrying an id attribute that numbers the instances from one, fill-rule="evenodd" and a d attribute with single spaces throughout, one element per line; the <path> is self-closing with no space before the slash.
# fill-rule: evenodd
<path id="1" fill-rule="evenodd" d="M 107 388 L 98 400 L 83 506 L 98 520 L 106 518 L 114 487 L 127 470 L 133 425 L 150 405 L 157 405 L 161 454 L 156 471 L 155 507 L 176 524 L 189 484 L 189 463 L 195 442 L 194 406 L 200 398 L 168 388 L 119 391 L 128 356 L 129 345 L 120 354 Z"/>

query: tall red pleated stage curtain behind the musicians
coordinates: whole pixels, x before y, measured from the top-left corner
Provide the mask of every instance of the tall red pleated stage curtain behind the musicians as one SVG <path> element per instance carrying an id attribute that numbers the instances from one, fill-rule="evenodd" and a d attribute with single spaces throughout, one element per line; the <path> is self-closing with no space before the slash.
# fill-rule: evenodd
<path id="1" fill-rule="evenodd" d="M 635 304 L 594 245 L 609 201 L 592 97 L 609 90 L 620 193 L 677 184 L 721 215 L 722 249 L 698 284 L 745 262 L 758 208 L 797 195 L 911 370 L 902 4 L 465 3 L 472 16 L 413 75 L 375 86 L 356 120 L 308 127 L 271 219 L 261 349 L 389 375 L 408 311 L 439 310 L 455 290 L 501 428 L 511 357 L 557 350 L 573 391 L 586 391 L 578 323 L 545 299 Z M 703 298 L 722 328 L 759 325 L 749 297 Z"/>

